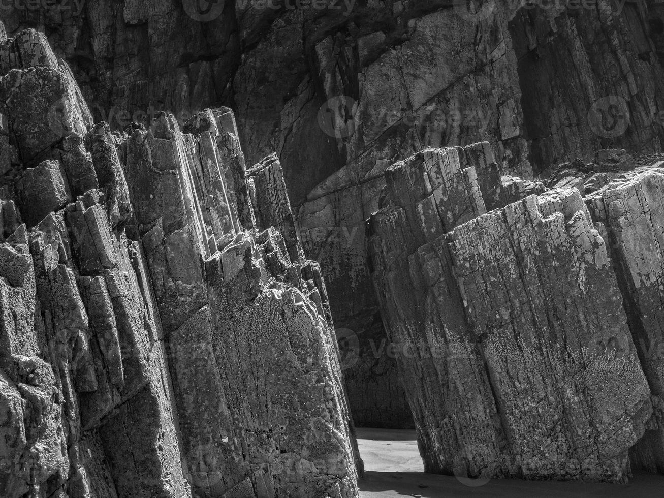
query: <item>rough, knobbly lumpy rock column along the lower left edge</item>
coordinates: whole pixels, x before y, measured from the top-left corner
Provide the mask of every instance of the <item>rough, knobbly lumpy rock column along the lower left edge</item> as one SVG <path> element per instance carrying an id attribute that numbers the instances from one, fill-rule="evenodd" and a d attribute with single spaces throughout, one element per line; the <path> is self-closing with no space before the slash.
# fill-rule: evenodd
<path id="1" fill-rule="evenodd" d="M 0 201 L 0 494 L 54 493 L 70 475 L 67 405 L 44 355 L 29 235 L 14 203 Z"/>

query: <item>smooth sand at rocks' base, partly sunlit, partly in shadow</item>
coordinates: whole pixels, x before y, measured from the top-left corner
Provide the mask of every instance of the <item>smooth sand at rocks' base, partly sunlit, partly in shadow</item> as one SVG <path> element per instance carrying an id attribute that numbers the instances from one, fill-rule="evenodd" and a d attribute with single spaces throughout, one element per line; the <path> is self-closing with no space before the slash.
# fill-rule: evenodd
<path id="1" fill-rule="evenodd" d="M 365 477 L 360 479 L 361 498 L 394 497 L 523 497 L 523 498 L 649 498 L 664 497 L 664 475 L 639 473 L 629 484 L 580 481 L 523 481 L 457 479 L 424 473 L 414 430 L 358 428 L 360 456 Z"/>

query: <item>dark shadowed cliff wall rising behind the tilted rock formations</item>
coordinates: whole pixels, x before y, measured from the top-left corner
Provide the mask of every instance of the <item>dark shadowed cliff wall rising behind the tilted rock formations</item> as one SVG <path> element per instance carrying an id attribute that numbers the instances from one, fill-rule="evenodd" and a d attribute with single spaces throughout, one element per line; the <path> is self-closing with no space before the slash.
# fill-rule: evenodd
<path id="1" fill-rule="evenodd" d="M 46 31 L 96 120 L 114 128 L 157 102 L 177 116 L 210 103 L 236 109 L 248 162 L 276 150 L 296 218 L 320 230 L 305 252 L 321 260 L 337 327 L 361 344 L 384 337 L 366 239 L 325 240 L 363 230 L 392 163 L 489 141 L 499 177 L 530 177 L 602 147 L 659 147 L 663 11 L 651 3 L 488 1 L 474 11 L 452 0 L 323 9 L 238 0 L 206 14 L 194 4 L 12 6 L 3 20 L 10 33 Z M 396 394 L 391 368 L 373 370 L 384 372 L 371 376 L 378 390 Z"/>

